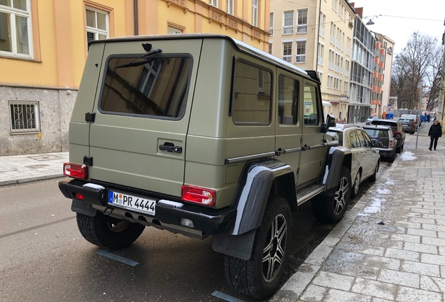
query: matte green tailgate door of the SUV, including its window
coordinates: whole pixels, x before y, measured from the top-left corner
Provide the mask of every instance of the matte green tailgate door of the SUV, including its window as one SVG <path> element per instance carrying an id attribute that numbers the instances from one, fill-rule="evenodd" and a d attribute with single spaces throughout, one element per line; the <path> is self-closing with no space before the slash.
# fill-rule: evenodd
<path id="1" fill-rule="evenodd" d="M 201 46 L 199 39 L 106 43 L 90 126 L 90 178 L 181 194 Z"/>

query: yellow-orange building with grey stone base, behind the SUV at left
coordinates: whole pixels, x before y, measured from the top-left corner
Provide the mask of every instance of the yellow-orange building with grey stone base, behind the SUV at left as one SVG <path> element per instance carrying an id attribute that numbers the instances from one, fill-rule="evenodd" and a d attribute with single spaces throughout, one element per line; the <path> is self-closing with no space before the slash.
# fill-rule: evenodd
<path id="1" fill-rule="evenodd" d="M 265 0 L 0 0 L 0 156 L 66 151 L 87 41 L 213 33 L 269 50 Z"/>

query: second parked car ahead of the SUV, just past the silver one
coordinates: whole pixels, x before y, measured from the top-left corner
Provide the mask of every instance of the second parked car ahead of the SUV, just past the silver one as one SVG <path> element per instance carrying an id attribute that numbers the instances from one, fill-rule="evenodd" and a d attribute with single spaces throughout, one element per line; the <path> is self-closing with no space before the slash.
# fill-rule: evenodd
<path id="1" fill-rule="evenodd" d="M 376 147 L 379 150 L 381 159 L 388 159 L 393 162 L 397 157 L 397 139 L 394 137 L 393 129 L 385 125 L 366 125 L 363 127 L 366 133 L 372 138 L 381 141 L 382 146 Z"/>

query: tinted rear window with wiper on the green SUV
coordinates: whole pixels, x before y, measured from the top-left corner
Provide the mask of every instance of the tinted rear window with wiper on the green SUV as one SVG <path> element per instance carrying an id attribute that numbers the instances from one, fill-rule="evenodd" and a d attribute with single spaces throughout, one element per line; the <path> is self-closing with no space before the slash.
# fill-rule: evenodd
<path id="1" fill-rule="evenodd" d="M 178 120 L 184 114 L 191 71 L 190 57 L 112 57 L 99 108 Z"/>

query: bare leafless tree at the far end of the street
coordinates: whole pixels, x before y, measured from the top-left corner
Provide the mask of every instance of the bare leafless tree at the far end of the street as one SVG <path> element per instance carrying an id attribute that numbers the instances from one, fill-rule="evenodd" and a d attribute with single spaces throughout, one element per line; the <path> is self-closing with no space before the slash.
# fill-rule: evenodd
<path id="1" fill-rule="evenodd" d="M 407 103 L 407 108 L 418 108 L 421 89 L 430 84 L 428 102 L 438 96 L 439 90 L 432 89 L 437 84 L 442 69 L 441 45 L 436 38 L 414 32 L 405 48 L 395 58 L 391 75 L 391 92 L 397 96 L 397 105 Z"/>

